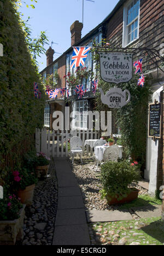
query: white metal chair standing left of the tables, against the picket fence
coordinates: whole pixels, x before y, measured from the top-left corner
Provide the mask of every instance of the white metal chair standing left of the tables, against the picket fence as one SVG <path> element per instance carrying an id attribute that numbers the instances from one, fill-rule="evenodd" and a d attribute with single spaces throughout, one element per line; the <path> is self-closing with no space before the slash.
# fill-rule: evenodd
<path id="1" fill-rule="evenodd" d="M 70 139 L 70 150 L 71 150 L 71 154 L 72 154 L 72 164 L 74 162 L 74 155 L 79 154 L 80 155 L 80 160 L 81 160 L 81 164 L 83 164 L 82 161 L 82 154 L 83 154 L 83 142 L 81 141 L 81 139 L 77 136 L 74 136 Z"/>

